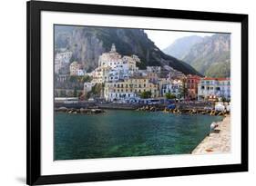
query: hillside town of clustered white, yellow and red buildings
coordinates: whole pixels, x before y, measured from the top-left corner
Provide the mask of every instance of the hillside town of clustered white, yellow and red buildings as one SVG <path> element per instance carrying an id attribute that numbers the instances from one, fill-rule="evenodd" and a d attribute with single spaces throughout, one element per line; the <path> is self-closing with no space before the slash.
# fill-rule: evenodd
<path id="1" fill-rule="evenodd" d="M 69 51 L 55 56 L 56 98 L 109 103 L 150 103 L 159 99 L 230 101 L 229 77 L 185 75 L 169 66 L 147 66 L 141 70 L 138 69 L 141 63 L 138 56 L 118 54 L 115 44 L 108 53 L 99 56 L 97 68 L 91 72 L 87 72 L 81 62 L 71 62 L 71 56 Z M 77 81 L 75 86 L 61 86 L 71 80 Z"/>

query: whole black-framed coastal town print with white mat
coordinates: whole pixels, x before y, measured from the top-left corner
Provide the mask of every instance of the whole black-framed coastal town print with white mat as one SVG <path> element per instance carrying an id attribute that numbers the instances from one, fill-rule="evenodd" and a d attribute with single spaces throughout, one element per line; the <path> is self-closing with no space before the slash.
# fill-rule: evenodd
<path id="1" fill-rule="evenodd" d="M 27 184 L 248 171 L 248 15 L 27 2 Z"/>

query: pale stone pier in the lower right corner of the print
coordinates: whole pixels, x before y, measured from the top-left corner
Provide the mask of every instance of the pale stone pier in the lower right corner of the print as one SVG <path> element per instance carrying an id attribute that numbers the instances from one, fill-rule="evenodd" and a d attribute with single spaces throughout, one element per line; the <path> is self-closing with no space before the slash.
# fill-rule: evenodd
<path id="1" fill-rule="evenodd" d="M 210 132 L 205 139 L 191 152 L 192 154 L 209 154 L 230 152 L 230 115 Z"/>

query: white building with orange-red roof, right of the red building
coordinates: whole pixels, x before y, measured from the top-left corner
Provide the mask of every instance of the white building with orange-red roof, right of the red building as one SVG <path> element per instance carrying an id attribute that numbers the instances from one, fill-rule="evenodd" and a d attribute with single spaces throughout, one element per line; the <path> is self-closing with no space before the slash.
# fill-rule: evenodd
<path id="1" fill-rule="evenodd" d="M 230 100 L 230 78 L 202 78 L 198 85 L 198 99 L 219 98 Z"/>

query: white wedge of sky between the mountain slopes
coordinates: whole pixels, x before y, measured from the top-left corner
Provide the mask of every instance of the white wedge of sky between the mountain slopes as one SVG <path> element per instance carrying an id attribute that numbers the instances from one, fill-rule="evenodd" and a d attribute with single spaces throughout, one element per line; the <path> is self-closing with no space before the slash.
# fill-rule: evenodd
<path id="1" fill-rule="evenodd" d="M 144 30 L 148 34 L 148 38 L 153 41 L 159 49 L 163 50 L 172 44 L 176 39 L 185 36 L 199 35 L 210 36 L 212 33 L 196 33 L 196 32 L 178 32 L 178 31 L 160 31 L 160 30 Z"/>

